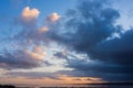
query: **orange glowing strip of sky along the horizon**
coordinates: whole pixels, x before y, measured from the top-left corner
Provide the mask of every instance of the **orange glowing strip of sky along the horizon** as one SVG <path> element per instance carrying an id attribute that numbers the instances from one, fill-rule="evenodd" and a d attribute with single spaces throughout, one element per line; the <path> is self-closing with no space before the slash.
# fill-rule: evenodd
<path id="1" fill-rule="evenodd" d="M 94 82 L 103 82 L 101 78 L 95 77 L 69 77 L 61 76 L 59 79 L 50 79 L 50 78 L 24 78 L 24 77 L 16 77 L 16 78 L 3 78 L 0 80 L 0 84 L 12 84 L 12 85 L 58 85 L 58 84 L 94 84 Z"/>

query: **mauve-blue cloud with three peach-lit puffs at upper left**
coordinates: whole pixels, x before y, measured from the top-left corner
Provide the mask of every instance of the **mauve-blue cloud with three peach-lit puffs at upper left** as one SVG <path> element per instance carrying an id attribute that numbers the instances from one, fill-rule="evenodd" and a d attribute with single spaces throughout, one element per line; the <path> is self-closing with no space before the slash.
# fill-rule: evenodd
<path id="1" fill-rule="evenodd" d="M 21 44 L 44 43 L 45 45 L 48 45 L 51 41 L 49 36 L 51 35 L 51 33 L 54 34 L 54 32 L 52 31 L 58 25 L 60 15 L 55 12 L 48 15 L 44 24 L 39 26 L 39 13 L 40 11 L 38 9 L 30 9 L 30 7 L 25 7 L 21 14 L 22 18 L 16 19 L 14 22 L 17 22 L 19 26 L 21 26 L 21 31 L 19 31 L 19 33 L 16 34 L 13 37 Z"/>

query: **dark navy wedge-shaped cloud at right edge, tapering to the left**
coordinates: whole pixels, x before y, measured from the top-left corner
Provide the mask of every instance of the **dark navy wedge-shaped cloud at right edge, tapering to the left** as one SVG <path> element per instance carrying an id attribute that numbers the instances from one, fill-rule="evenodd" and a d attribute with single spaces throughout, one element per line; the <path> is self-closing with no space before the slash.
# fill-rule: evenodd
<path id="1" fill-rule="evenodd" d="M 114 38 L 100 43 L 94 50 L 93 53 L 98 57 L 102 57 L 101 61 L 109 61 L 112 58 L 112 63 L 131 65 L 133 62 L 133 30 L 126 31 L 121 35 L 121 38 Z"/>

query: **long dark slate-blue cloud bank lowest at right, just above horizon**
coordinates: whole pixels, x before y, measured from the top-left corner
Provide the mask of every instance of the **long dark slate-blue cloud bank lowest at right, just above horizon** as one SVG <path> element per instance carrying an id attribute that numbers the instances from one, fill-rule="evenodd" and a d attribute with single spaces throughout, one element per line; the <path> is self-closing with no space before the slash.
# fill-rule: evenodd
<path id="1" fill-rule="evenodd" d="M 101 77 L 105 80 L 132 80 L 132 67 L 119 65 L 110 62 L 92 61 L 86 62 L 85 59 L 73 59 L 70 61 L 68 67 L 74 68 L 73 72 L 64 72 L 71 76 L 89 76 L 89 77 Z"/>

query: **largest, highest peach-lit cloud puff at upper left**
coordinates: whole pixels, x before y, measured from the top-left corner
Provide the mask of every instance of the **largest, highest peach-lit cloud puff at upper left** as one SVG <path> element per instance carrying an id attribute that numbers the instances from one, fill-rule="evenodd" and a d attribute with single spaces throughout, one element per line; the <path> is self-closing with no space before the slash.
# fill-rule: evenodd
<path id="1" fill-rule="evenodd" d="M 30 9 L 30 7 L 25 7 L 22 11 L 22 19 L 24 21 L 31 21 L 35 20 L 40 14 L 40 11 L 38 9 Z"/>

